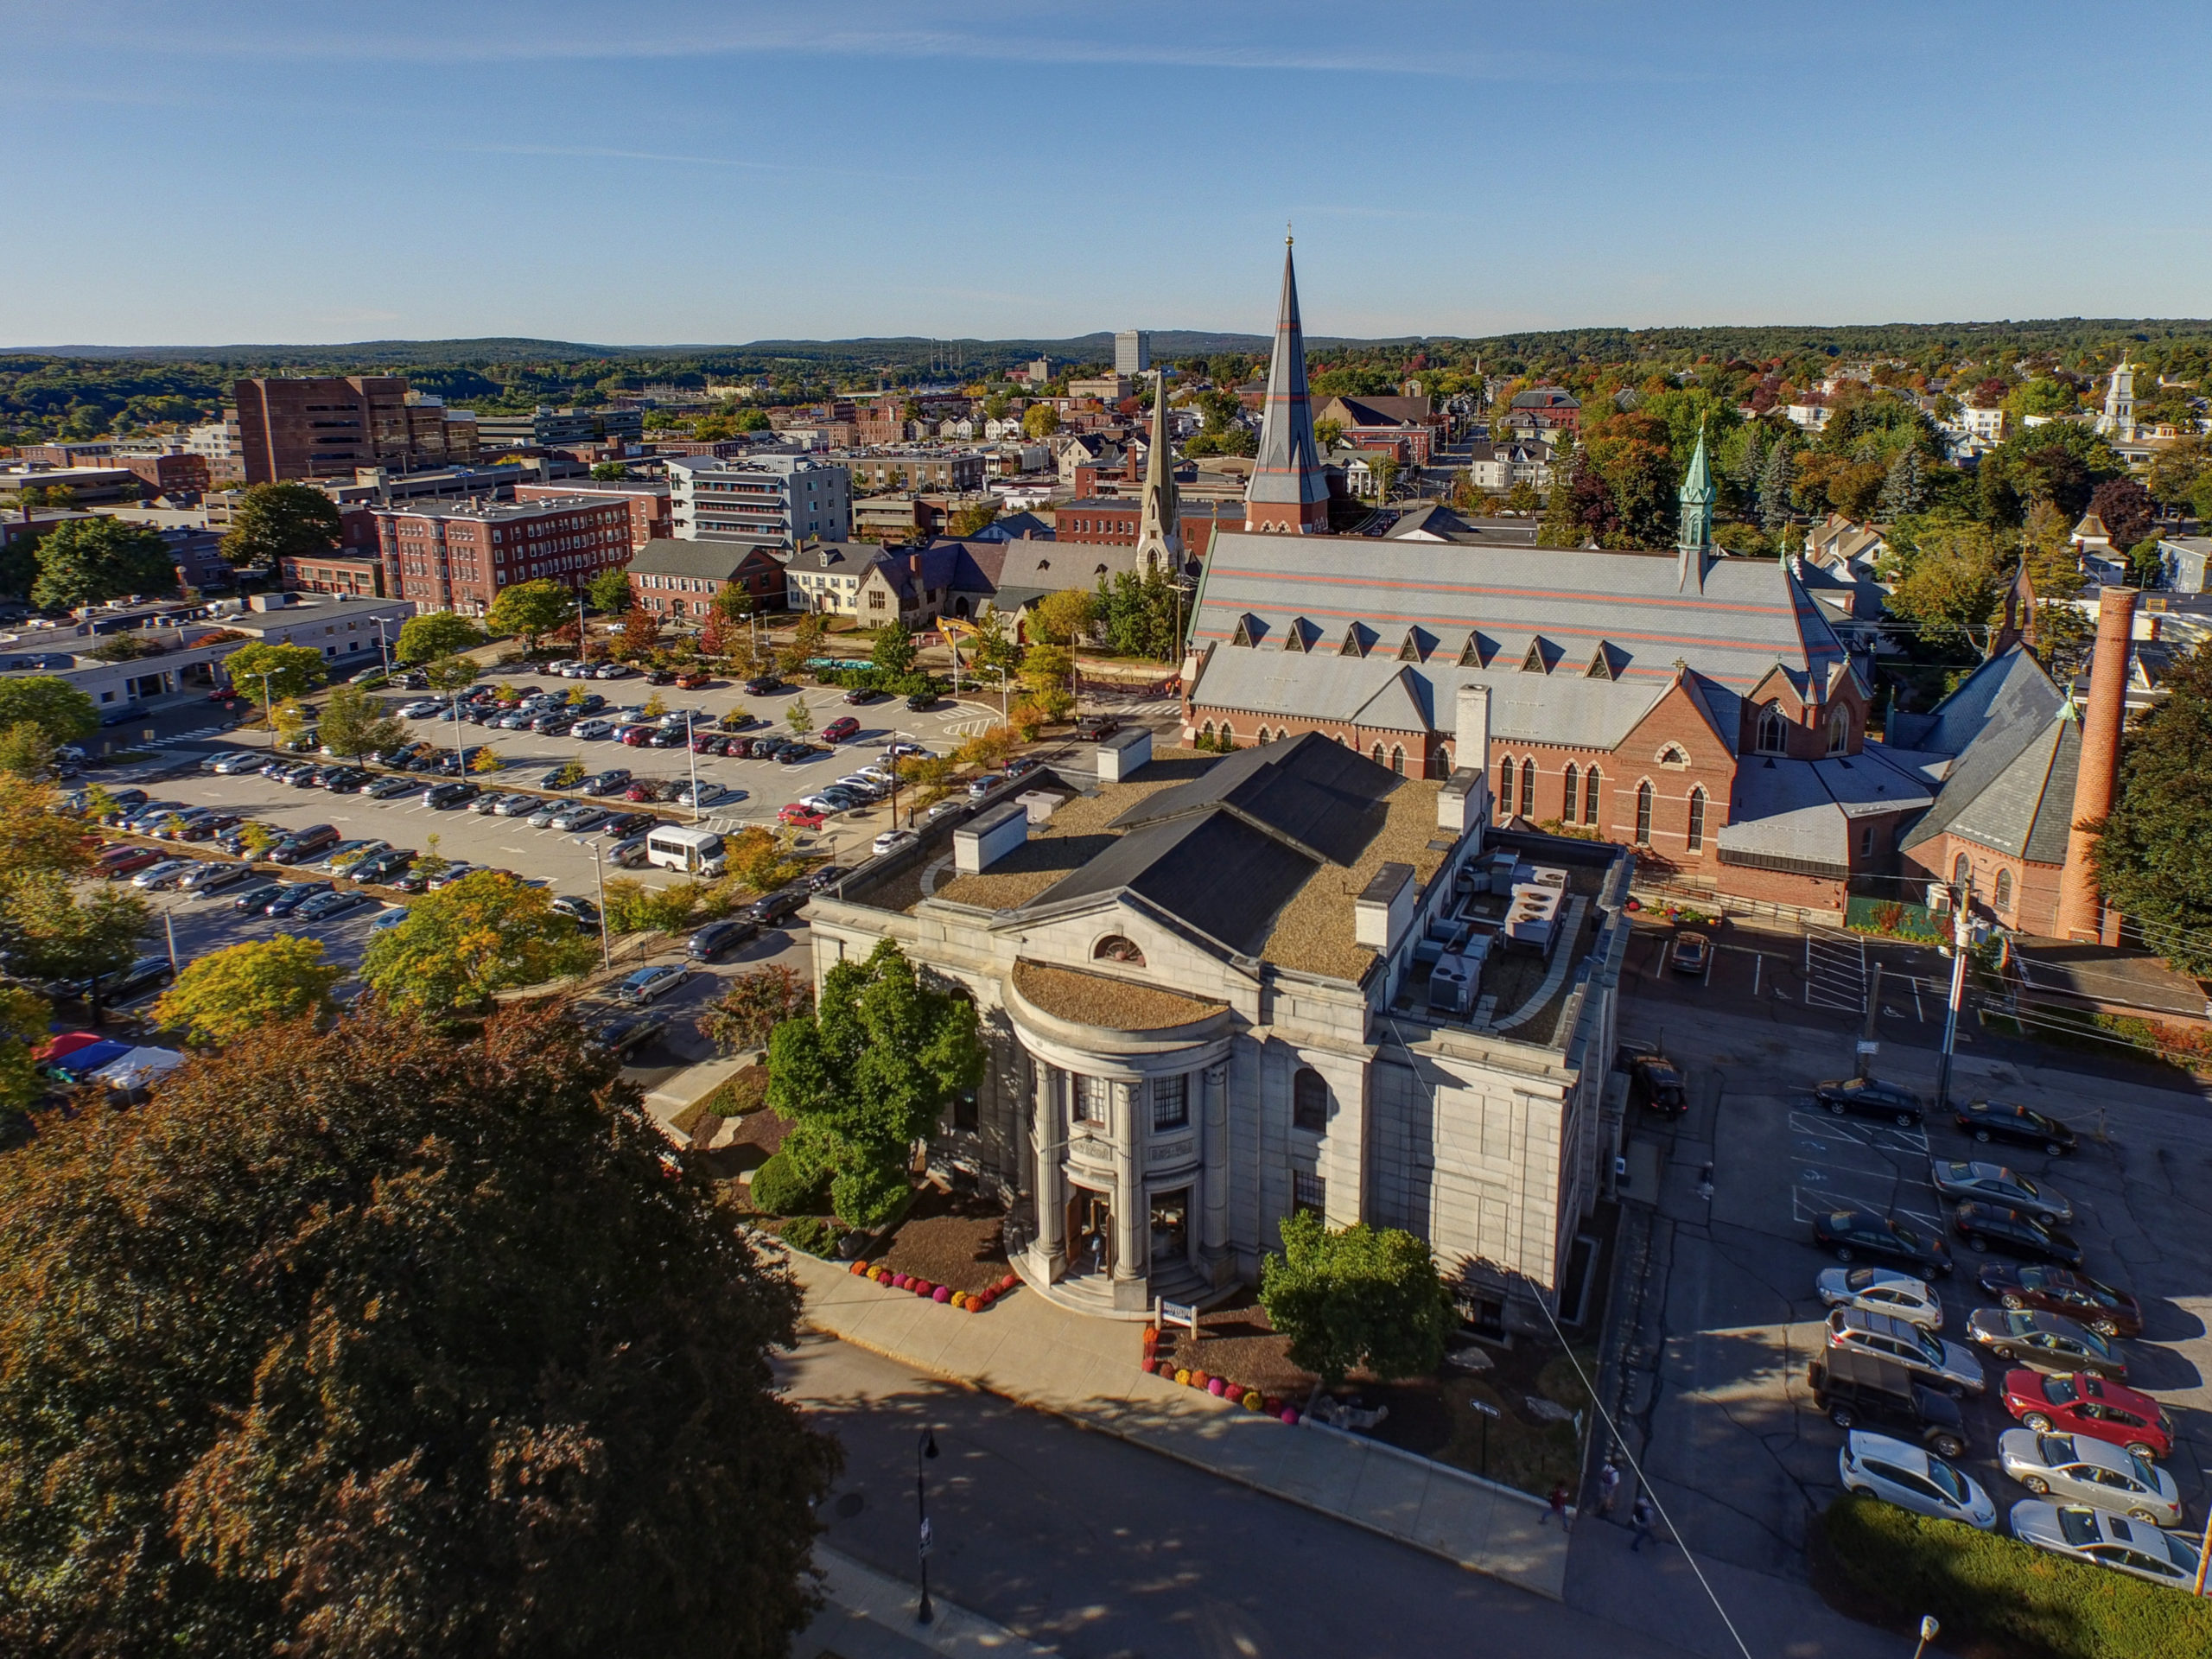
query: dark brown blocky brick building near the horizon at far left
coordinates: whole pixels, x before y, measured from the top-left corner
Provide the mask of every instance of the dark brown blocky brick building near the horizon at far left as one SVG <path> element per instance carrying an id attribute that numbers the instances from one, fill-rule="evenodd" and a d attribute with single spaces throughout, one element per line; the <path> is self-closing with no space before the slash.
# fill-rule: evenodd
<path id="1" fill-rule="evenodd" d="M 234 389 L 248 484 L 476 460 L 476 416 L 396 374 L 252 378 Z"/>

